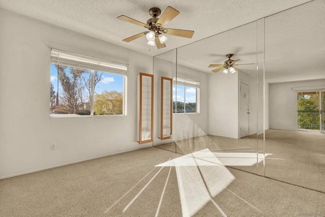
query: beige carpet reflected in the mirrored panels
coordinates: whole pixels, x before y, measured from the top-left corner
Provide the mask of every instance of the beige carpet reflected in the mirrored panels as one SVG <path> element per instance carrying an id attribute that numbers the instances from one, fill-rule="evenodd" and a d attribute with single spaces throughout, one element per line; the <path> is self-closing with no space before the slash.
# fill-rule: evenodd
<path id="1" fill-rule="evenodd" d="M 213 153 L 233 153 L 228 158 L 238 161 L 227 166 L 250 173 L 274 178 L 301 187 L 325 192 L 325 134 L 303 131 L 267 130 L 265 139 L 265 162 L 263 162 L 263 135 L 242 139 L 219 136 L 201 136 L 178 141 L 177 145 L 164 144 L 157 147 L 188 154 L 208 148 Z M 259 163 L 257 163 L 257 151 Z M 237 153 L 242 153 L 238 156 Z M 217 154 L 216 154 L 217 155 Z M 241 162 L 250 158 L 254 164 Z M 262 159 L 261 159 L 262 158 Z"/>

